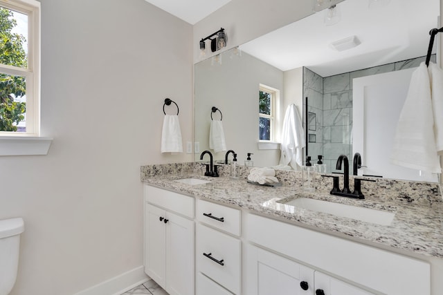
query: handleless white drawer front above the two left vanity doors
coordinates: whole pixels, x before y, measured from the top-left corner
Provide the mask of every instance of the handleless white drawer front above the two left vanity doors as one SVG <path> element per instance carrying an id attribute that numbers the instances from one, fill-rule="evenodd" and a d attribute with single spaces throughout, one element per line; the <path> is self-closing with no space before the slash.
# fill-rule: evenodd
<path id="1" fill-rule="evenodd" d="M 194 218 L 194 198 L 145 185 L 145 201 L 183 216 Z"/>

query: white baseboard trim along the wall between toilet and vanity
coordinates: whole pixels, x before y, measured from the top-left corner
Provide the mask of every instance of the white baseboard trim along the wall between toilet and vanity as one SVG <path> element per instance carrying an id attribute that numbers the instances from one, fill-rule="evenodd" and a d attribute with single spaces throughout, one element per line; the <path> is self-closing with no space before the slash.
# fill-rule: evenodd
<path id="1" fill-rule="evenodd" d="M 142 265 L 74 295 L 120 295 L 147 282 L 147 280 L 150 280 L 150 277 L 145 274 Z"/>

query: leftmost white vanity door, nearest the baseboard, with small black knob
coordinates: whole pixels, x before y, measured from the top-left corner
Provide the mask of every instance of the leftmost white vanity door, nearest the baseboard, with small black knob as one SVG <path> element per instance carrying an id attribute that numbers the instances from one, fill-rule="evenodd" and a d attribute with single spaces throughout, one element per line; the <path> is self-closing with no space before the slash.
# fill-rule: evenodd
<path id="1" fill-rule="evenodd" d="M 165 288 L 165 210 L 145 204 L 145 273 Z"/>

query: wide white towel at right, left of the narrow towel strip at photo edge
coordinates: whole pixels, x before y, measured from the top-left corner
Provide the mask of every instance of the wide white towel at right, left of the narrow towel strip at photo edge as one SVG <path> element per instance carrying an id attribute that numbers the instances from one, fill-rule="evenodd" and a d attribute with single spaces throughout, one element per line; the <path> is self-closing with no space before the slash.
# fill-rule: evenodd
<path id="1" fill-rule="evenodd" d="M 428 68 L 422 62 L 410 79 L 408 95 L 401 109 L 390 156 L 392 164 L 441 173 L 433 124 L 431 84 Z"/>

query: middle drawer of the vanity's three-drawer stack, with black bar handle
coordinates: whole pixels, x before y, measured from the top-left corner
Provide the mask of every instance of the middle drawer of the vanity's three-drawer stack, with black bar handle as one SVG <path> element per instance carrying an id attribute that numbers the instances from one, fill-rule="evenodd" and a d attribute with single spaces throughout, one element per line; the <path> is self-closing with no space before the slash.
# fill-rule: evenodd
<path id="1" fill-rule="evenodd" d="M 241 290 L 241 250 L 242 244 L 237 238 L 197 225 L 197 271 L 234 294 L 240 294 Z"/>

